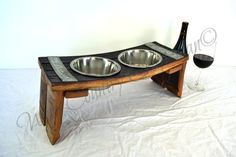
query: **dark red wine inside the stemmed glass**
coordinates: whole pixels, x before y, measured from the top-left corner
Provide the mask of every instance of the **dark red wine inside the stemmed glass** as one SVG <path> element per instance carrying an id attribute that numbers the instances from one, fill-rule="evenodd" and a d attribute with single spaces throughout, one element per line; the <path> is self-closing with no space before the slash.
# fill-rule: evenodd
<path id="1" fill-rule="evenodd" d="M 193 56 L 193 62 L 199 68 L 207 68 L 214 61 L 214 58 L 206 54 L 195 54 Z"/>

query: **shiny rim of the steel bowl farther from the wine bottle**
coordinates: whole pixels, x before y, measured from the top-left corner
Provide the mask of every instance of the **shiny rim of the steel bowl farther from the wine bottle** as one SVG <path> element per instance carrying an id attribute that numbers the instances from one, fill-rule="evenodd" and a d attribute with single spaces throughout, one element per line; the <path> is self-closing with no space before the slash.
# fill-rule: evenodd
<path id="1" fill-rule="evenodd" d="M 86 73 L 86 72 L 82 72 L 78 69 L 76 69 L 73 64 L 75 62 L 77 62 L 78 60 L 83 60 L 83 59 L 102 59 L 102 60 L 107 60 L 111 63 L 113 63 L 116 67 L 117 67 L 117 70 L 115 72 L 112 72 L 112 73 L 109 73 L 109 74 L 94 74 L 94 73 Z M 104 57 L 97 57 L 97 56 L 86 56 L 86 57 L 78 57 L 76 59 L 73 59 L 71 62 L 70 62 L 70 68 L 72 70 L 74 70 L 75 72 L 81 74 L 81 75 L 85 75 L 85 76 L 94 76 L 94 77 L 108 77 L 108 76 L 113 76 L 117 73 L 119 73 L 121 71 L 121 66 L 119 63 L 117 63 L 116 61 L 112 60 L 112 59 L 109 59 L 109 58 L 104 58 Z"/>

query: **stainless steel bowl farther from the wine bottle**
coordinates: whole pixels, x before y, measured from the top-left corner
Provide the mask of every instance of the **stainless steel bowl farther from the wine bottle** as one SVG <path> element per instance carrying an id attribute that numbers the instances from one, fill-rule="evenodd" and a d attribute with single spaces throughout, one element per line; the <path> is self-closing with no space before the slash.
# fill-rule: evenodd
<path id="1" fill-rule="evenodd" d="M 70 63 L 70 67 L 86 76 L 107 77 L 120 72 L 120 65 L 107 58 L 102 57 L 81 57 Z"/>

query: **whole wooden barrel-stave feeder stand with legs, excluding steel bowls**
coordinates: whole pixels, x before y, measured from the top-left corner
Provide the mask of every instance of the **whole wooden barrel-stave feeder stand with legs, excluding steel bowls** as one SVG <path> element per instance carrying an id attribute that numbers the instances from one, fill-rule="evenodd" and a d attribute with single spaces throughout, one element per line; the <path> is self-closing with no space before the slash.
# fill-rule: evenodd
<path id="1" fill-rule="evenodd" d="M 176 53 L 172 49 L 160 45 L 157 42 L 152 42 L 152 44 L 164 50 Z M 146 44 L 129 49 L 153 50 Z M 123 51 L 124 50 L 92 56 L 109 58 L 119 63 L 117 56 Z M 164 54 L 161 54 L 161 56 L 163 58 L 162 62 L 154 67 L 137 69 L 120 64 L 120 73 L 105 78 L 83 76 L 74 72 L 70 68 L 70 62 L 80 56 L 57 57 L 67 72 L 76 80 L 63 80 L 58 76 L 58 69 L 53 67 L 52 63 L 49 61 L 49 57 L 39 57 L 38 61 L 41 68 L 39 113 L 43 125 L 46 126 L 47 135 L 51 144 L 55 144 L 60 137 L 64 98 L 84 97 L 88 96 L 89 89 L 123 84 L 145 78 L 151 78 L 154 82 L 161 85 L 161 87 L 167 88 L 176 96 L 181 97 L 188 55 L 182 55 L 179 59 Z M 62 71 L 59 69 L 59 72 Z"/>

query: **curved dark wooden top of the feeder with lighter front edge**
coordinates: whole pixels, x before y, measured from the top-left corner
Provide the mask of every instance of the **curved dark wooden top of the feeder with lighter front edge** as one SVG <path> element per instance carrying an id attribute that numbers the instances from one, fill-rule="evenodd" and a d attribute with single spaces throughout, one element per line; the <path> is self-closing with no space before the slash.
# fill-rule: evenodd
<path id="1" fill-rule="evenodd" d="M 152 43 L 162 46 L 163 48 L 168 49 L 174 53 L 177 53 L 174 50 L 172 50 L 164 45 L 161 45 L 157 42 L 152 42 Z M 153 50 L 143 44 L 140 46 L 131 47 L 131 48 L 123 49 L 123 50 L 119 50 L 119 51 L 96 54 L 96 55 L 86 55 L 86 56 L 105 57 L 105 58 L 112 59 L 112 60 L 116 61 L 117 63 L 119 63 L 119 61 L 117 59 L 118 55 L 121 52 L 123 52 L 125 50 L 129 50 L 129 49 Z M 187 55 L 183 55 L 183 58 L 178 59 L 178 60 L 168 57 L 163 54 L 160 54 L 160 55 L 162 56 L 162 62 L 154 67 L 138 69 L 138 68 L 127 67 L 127 66 L 120 64 L 121 71 L 118 74 L 113 75 L 113 76 L 109 76 L 109 77 L 103 77 L 103 78 L 84 76 L 84 75 L 81 75 L 81 74 L 73 71 L 70 68 L 70 62 L 72 60 L 74 60 L 78 57 L 82 57 L 82 56 L 61 56 L 59 58 L 62 61 L 63 65 L 66 67 L 66 69 L 69 71 L 69 73 L 77 79 L 76 81 L 66 81 L 66 82 L 61 80 L 60 77 L 58 77 L 58 75 L 56 74 L 52 65 L 50 64 L 48 57 L 39 57 L 38 61 L 39 61 L 39 65 L 40 65 L 42 72 L 46 76 L 48 84 L 50 84 L 54 90 L 64 90 L 64 89 L 74 90 L 74 89 L 88 89 L 88 88 L 96 88 L 96 87 L 114 85 L 114 84 L 130 82 L 130 81 L 135 81 L 135 80 L 139 80 L 142 78 L 151 77 L 155 74 L 161 73 L 163 71 L 166 71 L 167 69 L 175 67 L 176 65 L 181 64 L 182 62 L 186 62 L 186 60 L 188 59 Z"/>

